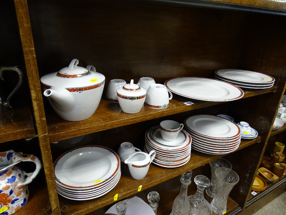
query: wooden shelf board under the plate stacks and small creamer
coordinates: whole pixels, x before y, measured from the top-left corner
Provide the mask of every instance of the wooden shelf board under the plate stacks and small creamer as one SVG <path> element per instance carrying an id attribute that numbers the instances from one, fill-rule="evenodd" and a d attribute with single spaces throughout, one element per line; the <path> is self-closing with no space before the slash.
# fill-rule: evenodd
<path id="1" fill-rule="evenodd" d="M 260 140 L 261 137 L 257 137 L 252 140 L 242 140 L 237 150 L 259 142 Z M 109 193 L 105 194 L 104 196 L 101 196 L 100 198 L 86 201 L 69 200 L 59 195 L 59 204 L 60 207 L 64 205 L 68 207 L 67 212 L 64 213 L 65 215 L 84 215 L 99 208 L 102 208 L 106 205 L 114 203 L 113 199 L 116 193 L 118 193 L 118 200 L 121 200 L 128 196 L 136 194 L 140 185 L 142 185 L 141 190 L 147 189 L 149 187 L 167 181 L 168 179 L 174 178 L 186 171 L 205 165 L 210 161 L 214 161 L 225 155 L 208 155 L 192 150 L 190 161 L 188 161 L 188 163 L 186 163 L 185 165 L 177 168 L 164 168 L 151 164 L 146 177 L 141 180 L 133 179 L 129 173 L 128 167 L 126 165 L 122 165 L 122 174 L 120 180 L 116 187 Z"/>

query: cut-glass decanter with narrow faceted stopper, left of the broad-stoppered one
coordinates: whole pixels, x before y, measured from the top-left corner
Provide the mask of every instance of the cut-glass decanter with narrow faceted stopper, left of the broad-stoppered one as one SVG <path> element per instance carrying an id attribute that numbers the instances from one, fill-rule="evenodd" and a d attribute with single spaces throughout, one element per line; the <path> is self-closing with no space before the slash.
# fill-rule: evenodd
<path id="1" fill-rule="evenodd" d="M 182 174 L 180 179 L 182 185 L 179 195 L 175 198 L 170 215 L 188 215 L 190 210 L 190 203 L 188 200 L 187 192 L 188 185 L 191 183 L 192 171 Z"/>

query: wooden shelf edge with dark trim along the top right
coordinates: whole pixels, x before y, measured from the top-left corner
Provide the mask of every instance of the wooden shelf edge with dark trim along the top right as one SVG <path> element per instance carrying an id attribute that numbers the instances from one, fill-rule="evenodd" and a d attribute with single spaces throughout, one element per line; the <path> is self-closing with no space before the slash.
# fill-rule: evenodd
<path id="1" fill-rule="evenodd" d="M 193 7 L 286 15 L 284 2 L 270 0 L 141 0 Z"/>

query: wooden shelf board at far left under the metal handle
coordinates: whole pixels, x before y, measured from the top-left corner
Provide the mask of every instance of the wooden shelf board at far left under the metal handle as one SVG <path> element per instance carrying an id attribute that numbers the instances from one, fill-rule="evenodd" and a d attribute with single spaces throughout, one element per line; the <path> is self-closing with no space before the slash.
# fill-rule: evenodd
<path id="1" fill-rule="evenodd" d="M 29 106 L 12 108 L 1 114 L 0 143 L 35 136 L 35 128 Z"/>

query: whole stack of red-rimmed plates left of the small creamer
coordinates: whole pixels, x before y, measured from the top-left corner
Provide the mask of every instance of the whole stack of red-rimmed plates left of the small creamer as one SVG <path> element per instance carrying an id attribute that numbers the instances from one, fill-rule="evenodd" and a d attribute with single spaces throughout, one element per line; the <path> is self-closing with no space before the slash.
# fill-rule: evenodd
<path id="1" fill-rule="evenodd" d="M 80 146 L 62 154 L 54 163 L 57 192 L 72 200 L 98 198 L 118 183 L 118 155 L 104 146 Z"/>

